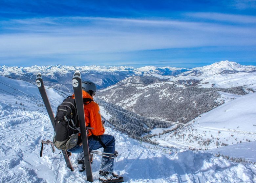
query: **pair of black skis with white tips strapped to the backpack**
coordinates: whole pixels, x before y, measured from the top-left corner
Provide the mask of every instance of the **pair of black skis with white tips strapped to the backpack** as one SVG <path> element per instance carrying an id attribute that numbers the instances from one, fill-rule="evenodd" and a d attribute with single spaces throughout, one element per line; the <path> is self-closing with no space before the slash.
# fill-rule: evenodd
<path id="1" fill-rule="evenodd" d="M 52 122 L 52 125 L 54 126 L 53 110 L 51 108 L 48 96 L 46 94 L 42 75 L 40 73 L 38 73 L 36 75 L 36 84 L 37 84 L 39 92 L 42 96 L 44 105 L 46 107 L 46 110 L 47 110 L 50 120 Z M 92 174 L 92 168 L 91 168 L 91 160 L 90 160 L 88 139 L 87 139 L 87 133 L 86 133 L 86 125 L 85 125 L 85 117 L 84 117 L 82 80 L 81 80 L 80 72 L 78 72 L 78 71 L 75 72 L 73 79 L 72 79 L 72 85 L 73 85 L 73 89 L 74 89 L 76 109 L 77 109 L 77 114 L 78 114 L 80 130 L 81 130 L 81 138 L 82 138 L 85 168 L 86 168 L 86 177 L 87 177 L 87 181 L 93 182 L 93 174 Z M 62 154 L 66 161 L 67 167 L 70 168 L 71 171 L 73 171 L 73 167 L 72 167 L 70 159 L 69 159 L 69 152 L 62 150 Z"/>

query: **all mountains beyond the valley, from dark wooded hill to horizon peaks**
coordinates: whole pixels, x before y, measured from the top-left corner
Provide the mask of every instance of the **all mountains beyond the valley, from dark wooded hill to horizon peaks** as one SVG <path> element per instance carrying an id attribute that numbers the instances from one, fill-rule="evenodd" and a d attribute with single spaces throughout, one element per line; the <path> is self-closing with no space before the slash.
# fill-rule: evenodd
<path id="1" fill-rule="evenodd" d="M 141 116 L 187 123 L 226 100 L 220 92 L 245 95 L 256 89 L 256 67 L 221 61 L 193 69 L 146 66 L 0 67 L 0 75 L 34 83 L 41 72 L 48 87 L 72 93 L 76 70 L 94 81 L 98 99 Z M 231 100 L 231 99 L 230 99 Z"/>

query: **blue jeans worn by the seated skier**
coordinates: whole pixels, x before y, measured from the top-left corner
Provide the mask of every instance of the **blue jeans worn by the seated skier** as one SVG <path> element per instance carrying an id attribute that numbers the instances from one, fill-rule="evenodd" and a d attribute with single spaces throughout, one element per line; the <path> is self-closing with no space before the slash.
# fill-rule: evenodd
<path id="1" fill-rule="evenodd" d="M 101 135 L 101 141 L 105 144 L 103 152 L 114 153 L 115 152 L 115 137 L 112 135 Z M 93 138 L 88 139 L 89 150 L 96 150 L 102 147 L 99 141 Z M 75 147 L 68 150 L 71 153 L 81 153 L 79 156 L 83 156 L 83 145 L 76 145 Z M 99 171 L 102 172 L 113 172 L 114 171 L 114 159 L 102 156 Z"/>

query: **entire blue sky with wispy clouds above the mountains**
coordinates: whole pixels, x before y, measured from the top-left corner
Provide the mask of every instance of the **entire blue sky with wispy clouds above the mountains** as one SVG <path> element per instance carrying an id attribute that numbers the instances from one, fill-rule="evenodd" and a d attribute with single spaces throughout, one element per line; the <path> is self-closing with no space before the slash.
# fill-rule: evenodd
<path id="1" fill-rule="evenodd" d="M 256 0 L 0 1 L 0 65 L 256 65 Z"/>

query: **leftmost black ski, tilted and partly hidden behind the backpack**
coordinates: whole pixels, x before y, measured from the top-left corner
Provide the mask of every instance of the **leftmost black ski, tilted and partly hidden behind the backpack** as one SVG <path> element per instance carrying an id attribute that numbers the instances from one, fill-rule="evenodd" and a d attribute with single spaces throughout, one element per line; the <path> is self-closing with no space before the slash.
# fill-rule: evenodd
<path id="1" fill-rule="evenodd" d="M 38 87 L 38 90 L 41 94 L 41 97 L 43 99 L 43 102 L 44 102 L 44 105 L 45 105 L 45 108 L 48 112 L 48 115 L 50 117 L 50 120 L 52 122 L 52 125 L 54 124 L 54 115 L 53 115 L 53 110 L 52 110 L 52 107 L 50 105 L 50 102 L 49 102 L 49 99 L 48 99 L 48 96 L 47 96 L 47 93 L 45 91 L 45 88 L 44 88 L 44 83 L 43 83 L 43 78 L 42 78 L 42 75 L 41 73 L 38 73 L 36 75 L 36 85 Z M 53 125 L 53 128 L 54 128 L 54 125 Z M 69 159 L 69 156 L 68 156 L 68 152 L 65 151 L 65 150 L 62 150 L 62 154 L 64 156 L 64 159 L 66 161 L 66 164 L 67 164 L 67 167 L 73 171 L 73 167 L 71 165 L 71 162 L 70 162 L 70 159 Z"/>

